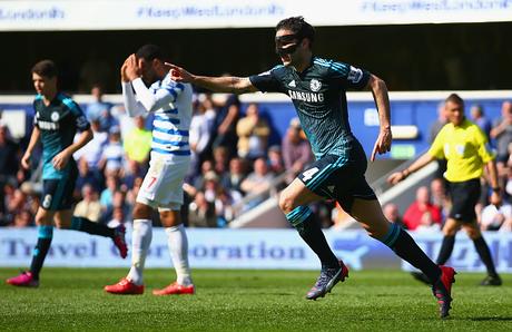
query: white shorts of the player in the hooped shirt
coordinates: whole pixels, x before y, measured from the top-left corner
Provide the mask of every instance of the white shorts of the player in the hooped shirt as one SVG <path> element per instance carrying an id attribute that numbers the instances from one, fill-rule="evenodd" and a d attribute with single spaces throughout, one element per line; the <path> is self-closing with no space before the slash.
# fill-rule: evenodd
<path id="1" fill-rule="evenodd" d="M 179 211 L 184 203 L 183 184 L 190 167 L 190 157 L 151 154 L 137 202 L 158 211 Z"/>

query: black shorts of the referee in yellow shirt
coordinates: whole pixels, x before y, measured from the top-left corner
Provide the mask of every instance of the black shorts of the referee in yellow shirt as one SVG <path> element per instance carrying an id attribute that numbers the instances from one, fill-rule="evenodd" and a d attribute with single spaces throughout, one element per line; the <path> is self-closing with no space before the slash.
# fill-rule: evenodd
<path id="1" fill-rule="evenodd" d="M 476 221 L 474 207 L 479 203 L 481 187 L 480 178 L 472 178 L 464 182 L 449 182 L 452 209 L 449 217 L 462 222 L 473 223 Z"/>

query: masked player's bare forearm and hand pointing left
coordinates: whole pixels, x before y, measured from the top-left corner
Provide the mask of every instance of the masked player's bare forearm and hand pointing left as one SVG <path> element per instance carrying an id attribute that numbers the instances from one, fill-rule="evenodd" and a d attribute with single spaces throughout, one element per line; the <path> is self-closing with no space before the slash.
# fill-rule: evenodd
<path id="1" fill-rule="evenodd" d="M 175 81 L 194 84 L 215 92 L 230 92 L 240 95 L 258 91 L 258 89 L 253 86 L 248 77 L 197 76 L 176 65 L 169 62 L 166 62 L 165 65 L 170 71 L 170 78 Z"/>

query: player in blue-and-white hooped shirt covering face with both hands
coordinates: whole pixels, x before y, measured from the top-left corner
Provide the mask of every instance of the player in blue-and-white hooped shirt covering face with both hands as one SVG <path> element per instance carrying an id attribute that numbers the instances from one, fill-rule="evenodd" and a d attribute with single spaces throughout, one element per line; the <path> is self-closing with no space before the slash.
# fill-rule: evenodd
<path id="1" fill-rule="evenodd" d="M 128 114 L 136 117 L 152 113 L 155 119 L 149 169 L 132 212 L 131 268 L 118 283 L 105 286 L 105 291 L 112 294 L 144 293 L 142 272 L 152 237 L 151 215 L 158 209 L 177 280 L 152 293 L 194 294 L 187 234 L 180 217 L 183 184 L 190 167 L 191 86 L 170 78 L 164 66 L 163 51 L 155 45 L 145 45 L 137 53 L 130 55 L 122 64 L 120 75 Z"/>

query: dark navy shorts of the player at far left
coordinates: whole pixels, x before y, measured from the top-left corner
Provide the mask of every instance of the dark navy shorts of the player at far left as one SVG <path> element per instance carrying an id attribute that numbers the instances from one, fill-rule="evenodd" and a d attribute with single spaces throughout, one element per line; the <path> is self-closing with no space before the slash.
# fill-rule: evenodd
<path id="1" fill-rule="evenodd" d="M 43 179 L 41 207 L 48 211 L 70 209 L 77 176 L 77 172 L 71 170 L 65 178 Z"/>

